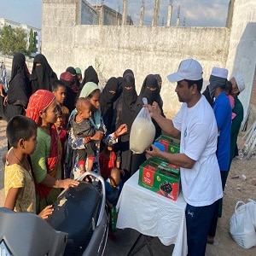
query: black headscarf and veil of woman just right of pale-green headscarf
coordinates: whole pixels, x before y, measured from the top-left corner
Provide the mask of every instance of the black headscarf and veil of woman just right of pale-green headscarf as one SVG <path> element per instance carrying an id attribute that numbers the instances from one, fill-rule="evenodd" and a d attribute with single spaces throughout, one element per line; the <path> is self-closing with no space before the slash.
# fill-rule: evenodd
<path id="1" fill-rule="evenodd" d="M 118 89 L 119 89 L 118 79 L 113 77 L 108 79 L 108 82 L 103 88 L 101 93 L 100 106 L 102 111 L 102 118 L 108 131 L 112 131 L 113 102 L 115 102 L 117 99 Z M 110 93 L 109 92 L 110 90 L 115 91 L 115 94 Z"/>

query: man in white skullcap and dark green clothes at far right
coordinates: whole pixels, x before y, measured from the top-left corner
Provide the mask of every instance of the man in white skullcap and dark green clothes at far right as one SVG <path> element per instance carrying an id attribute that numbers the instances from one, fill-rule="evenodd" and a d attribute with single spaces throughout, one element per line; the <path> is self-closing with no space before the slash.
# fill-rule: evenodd
<path id="1" fill-rule="evenodd" d="M 231 125 L 231 146 L 230 146 L 230 165 L 233 158 L 236 156 L 236 142 L 238 133 L 240 130 L 241 122 L 243 120 L 243 107 L 238 99 L 239 94 L 245 89 L 245 84 L 241 76 L 236 75 L 230 79 L 232 84 L 231 95 L 235 99 L 235 107 L 233 113 L 236 113 L 236 117 L 232 120 Z"/>

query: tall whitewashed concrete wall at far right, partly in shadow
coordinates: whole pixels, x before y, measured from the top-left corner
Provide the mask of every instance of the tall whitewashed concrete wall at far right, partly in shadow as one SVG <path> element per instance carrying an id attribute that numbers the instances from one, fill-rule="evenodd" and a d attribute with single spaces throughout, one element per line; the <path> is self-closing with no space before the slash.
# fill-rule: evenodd
<path id="1" fill-rule="evenodd" d="M 256 68 L 256 1 L 235 0 L 226 68 L 229 75 L 240 74 L 246 89 L 239 96 L 245 114 L 249 107 Z M 254 85 L 255 86 L 255 85 Z M 254 110 L 253 110 L 254 109 Z M 255 106 L 252 108 L 255 116 Z"/>

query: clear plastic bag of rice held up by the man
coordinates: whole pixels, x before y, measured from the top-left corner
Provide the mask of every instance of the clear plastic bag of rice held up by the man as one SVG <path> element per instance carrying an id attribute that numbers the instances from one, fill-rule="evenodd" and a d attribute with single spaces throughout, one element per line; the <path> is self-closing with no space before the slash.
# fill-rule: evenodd
<path id="1" fill-rule="evenodd" d="M 144 104 L 145 98 L 143 98 Z M 142 154 L 154 142 L 155 127 L 148 108 L 142 108 L 131 125 L 130 149 L 134 154 Z"/>

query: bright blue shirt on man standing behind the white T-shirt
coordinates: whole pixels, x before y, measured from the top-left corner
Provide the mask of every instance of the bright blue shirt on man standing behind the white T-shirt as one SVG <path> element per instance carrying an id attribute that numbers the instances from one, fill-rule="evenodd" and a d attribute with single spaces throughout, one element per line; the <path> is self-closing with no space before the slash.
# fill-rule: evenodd
<path id="1" fill-rule="evenodd" d="M 228 171 L 230 164 L 231 114 L 230 100 L 224 91 L 218 95 L 212 105 L 219 129 L 217 159 L 220 171 Z"/>

